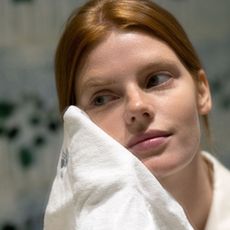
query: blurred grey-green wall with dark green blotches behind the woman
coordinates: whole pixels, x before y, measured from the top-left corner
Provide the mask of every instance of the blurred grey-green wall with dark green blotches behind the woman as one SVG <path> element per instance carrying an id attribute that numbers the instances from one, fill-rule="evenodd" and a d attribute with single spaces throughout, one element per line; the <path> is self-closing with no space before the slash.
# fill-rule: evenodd
<path id="1" fill-rule="evenodd" d="M 0 0 L 0 229 L 41 230 L 62 144 L 53 57 L 80 0 Z M 158 0 L 210 80 L 213 153 L 230 168 L 230 1 Z"/>

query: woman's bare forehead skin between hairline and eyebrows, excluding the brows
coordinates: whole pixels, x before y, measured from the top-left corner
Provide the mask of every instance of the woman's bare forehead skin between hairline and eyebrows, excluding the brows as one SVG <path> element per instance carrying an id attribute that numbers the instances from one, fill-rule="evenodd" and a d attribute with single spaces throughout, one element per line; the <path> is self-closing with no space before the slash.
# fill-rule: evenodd
<path id="1" fill-rule="evenodd" d="M 179 62 L 175 52 L 164 41 L 154 36 L 140 31 L 114 30 L 88 53 L 82 69 L 99 70 L 116 65 L 121 68 L 126 67 L 121 64 L 127 60 L 137 64 L 150 60 L 156 63 Z"/>

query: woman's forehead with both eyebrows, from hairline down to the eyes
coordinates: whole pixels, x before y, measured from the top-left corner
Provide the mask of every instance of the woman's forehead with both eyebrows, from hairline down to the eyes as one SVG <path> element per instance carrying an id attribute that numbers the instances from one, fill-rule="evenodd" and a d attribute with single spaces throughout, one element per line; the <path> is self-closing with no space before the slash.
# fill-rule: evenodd
<path id="1" fill-rule="evenodd" d="M 189 74 L 175 52 L 158 38 L 113 31 L 88 53 L 77 77 L 77 97 L 85 90 L 162 70 Z"/>

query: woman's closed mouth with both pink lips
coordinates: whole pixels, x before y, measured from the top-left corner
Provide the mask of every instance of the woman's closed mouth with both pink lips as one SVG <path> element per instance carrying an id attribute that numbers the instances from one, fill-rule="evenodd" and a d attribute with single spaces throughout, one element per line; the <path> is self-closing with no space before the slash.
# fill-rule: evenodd
<path id="1" fill-rule="evenodd" d="M 172 133 L 162 130 L 151 130 L 133 137 L 127 144 L 127 149 L 134 154 L 159 153 L 159 150 L 167 143 Z"/>

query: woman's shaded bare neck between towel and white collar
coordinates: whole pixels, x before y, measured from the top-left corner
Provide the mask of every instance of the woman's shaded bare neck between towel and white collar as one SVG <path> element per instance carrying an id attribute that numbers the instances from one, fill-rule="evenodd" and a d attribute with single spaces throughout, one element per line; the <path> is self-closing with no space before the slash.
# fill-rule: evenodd
<path id="1" fill-rule="evenodd" d="M 201 154 L 178 174 L 163 178 L 161 184 L 181 204 L 197 230 L 206 225 L 212 202 L 210 167 Z"/>

